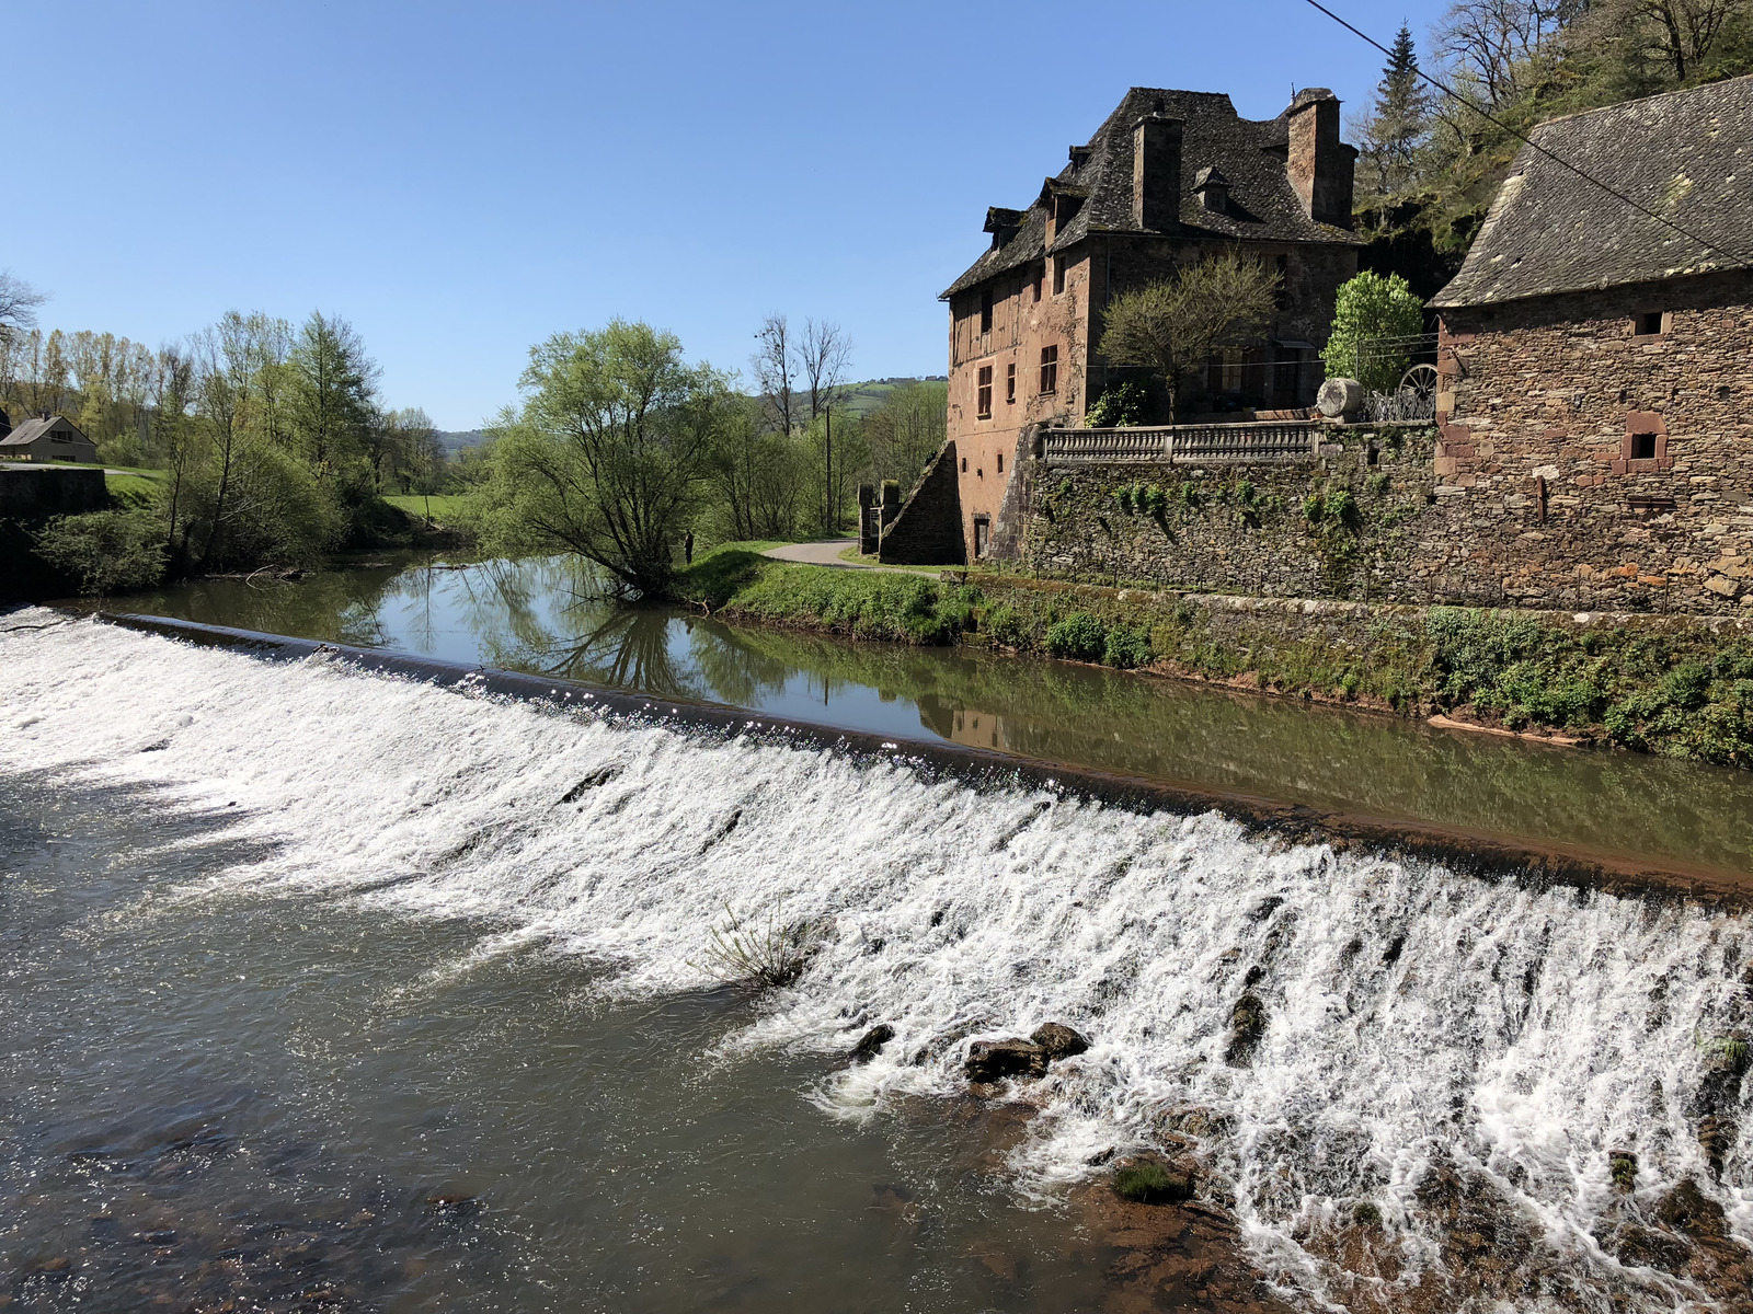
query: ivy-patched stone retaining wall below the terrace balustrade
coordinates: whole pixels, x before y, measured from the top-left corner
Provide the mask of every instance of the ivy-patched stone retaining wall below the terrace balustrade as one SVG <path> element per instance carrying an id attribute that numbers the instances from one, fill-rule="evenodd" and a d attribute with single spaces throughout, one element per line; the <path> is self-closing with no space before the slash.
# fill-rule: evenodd
<path id="1" fill-rule="evenodd" d="M 1353 426 L 1334 429 L 1317 461 L 1031 461 L 1013 555 L 1089 582 L 1430 601 L 1420 568 L 1448 531 L 1432 438 L 1429 427 Z"/>

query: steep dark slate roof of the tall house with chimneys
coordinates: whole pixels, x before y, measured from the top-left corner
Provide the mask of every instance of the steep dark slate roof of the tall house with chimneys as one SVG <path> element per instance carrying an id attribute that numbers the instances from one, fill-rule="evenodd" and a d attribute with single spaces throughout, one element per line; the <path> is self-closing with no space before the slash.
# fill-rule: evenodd
<path id="1" fill-rule="evenodd" d="M 1299 102 L 1308 95 L 1302 93 Z M 1345 228 L 1309 219 L 1290 187 L 1285 173 L 1288 109 L 1276 119 L 1245 119 L 1236 114 L 1229 96 L 1218 91 L 1136 86 L 1096 130 L 1089 145 L 1073 147 L 1073 163 L 1043 184 L 1043 198 L 1055 186 L 1089 193 L 1076 215 L 1059 230 L 1054 251 L 1066 251 L 1090 233 L 1145 231 L 1132 223 L 1132 124 L 1153 112 L 1183 123 L 1176 237 L 1346 245 L 1362 242 Z M 1204 208 L 1194 194 L 1192 182 L 1203 168 L 1217 168 L 1229 182 L 1229 207 L 1224 214 Z M 1024 212 L 1013 237 L 980 256 L 940 300 L 1048 254 L 1043 198 Z"/>

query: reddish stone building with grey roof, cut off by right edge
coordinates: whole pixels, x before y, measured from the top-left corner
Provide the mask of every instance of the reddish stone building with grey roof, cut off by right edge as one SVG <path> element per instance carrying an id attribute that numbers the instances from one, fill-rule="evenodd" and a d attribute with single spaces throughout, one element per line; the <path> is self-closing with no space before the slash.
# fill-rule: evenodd
<path id="1" fill-rule="evenodd" d="M 1653 215 L 1518 154 L 1432 300 L 1451 534 L 1427 564 L 1523 606 L 1753 606 L 1753 77 L 1534 142 Z"/>

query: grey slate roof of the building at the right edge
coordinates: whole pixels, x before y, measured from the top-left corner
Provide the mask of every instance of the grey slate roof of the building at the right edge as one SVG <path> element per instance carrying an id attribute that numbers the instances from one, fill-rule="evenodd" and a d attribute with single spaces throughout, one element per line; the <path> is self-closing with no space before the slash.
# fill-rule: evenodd
<path id="1" fill-rule="evenodd" d="M 1532 140 L 1706 242 L 1523 145 L 1460 273 L 1430 305 L 1658 282 L 1753 259 L 1753 75 L 1571 114 Z"/>

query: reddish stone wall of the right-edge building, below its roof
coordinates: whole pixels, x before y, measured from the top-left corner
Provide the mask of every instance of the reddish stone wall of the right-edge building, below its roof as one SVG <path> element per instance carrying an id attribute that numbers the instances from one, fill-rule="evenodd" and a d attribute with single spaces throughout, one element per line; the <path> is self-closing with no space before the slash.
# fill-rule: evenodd
<path id="1" fill-rule="evenodd" d="M 1662 331 L 1634 333 L 1660 314 Z M 1753 275 L 1443 312 L 1437 590 L 1753 608 Z M 1634 454 L 1630 434 L 1655 434 Z"/>

